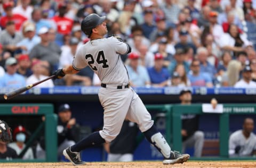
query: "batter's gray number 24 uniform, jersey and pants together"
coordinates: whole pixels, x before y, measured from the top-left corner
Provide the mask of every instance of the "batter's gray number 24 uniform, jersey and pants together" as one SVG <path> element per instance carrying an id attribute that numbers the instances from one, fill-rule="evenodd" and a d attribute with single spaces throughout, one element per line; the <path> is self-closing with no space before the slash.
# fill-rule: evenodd
<path id="1" fill-rule="evenodd" d="M 132 88 L 127 86 L 129 76 L 119 54 L 129 52 L 127 44 L 115 37 L 88 41 L 80 47 L 73 61 L 73 68 L 81 70 L 89 65 L 106 87 L 99 90 L 99 100 L 104 108 L 104 125 L 99 132 L 107 142 L 121 131 L 125 119 L 139 125 L 141 132 L 152 127 L 154 121 Z"/>

